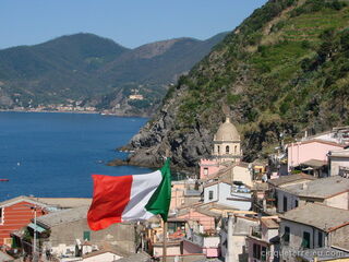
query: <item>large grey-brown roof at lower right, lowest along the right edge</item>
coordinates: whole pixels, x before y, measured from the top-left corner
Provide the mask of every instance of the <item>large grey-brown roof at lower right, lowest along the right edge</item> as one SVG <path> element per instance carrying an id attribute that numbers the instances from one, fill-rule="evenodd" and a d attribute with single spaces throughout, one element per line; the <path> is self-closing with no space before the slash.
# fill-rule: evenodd
<path id="1" fill-rule="evenodd" d="M 313 226 L 329 233 L 349 225 L 349 211 L 323 204 L 306 203 L 286 212 L 280 218 Z"/>

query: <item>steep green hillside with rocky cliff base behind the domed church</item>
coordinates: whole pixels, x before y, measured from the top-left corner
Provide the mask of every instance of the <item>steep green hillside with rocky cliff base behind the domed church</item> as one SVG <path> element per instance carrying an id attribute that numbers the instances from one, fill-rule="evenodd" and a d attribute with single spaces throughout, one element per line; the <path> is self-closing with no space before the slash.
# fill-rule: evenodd
<path id="1" fill-rule="evenodd" d="M 156 166 L 167 148 L 179 167 L 212 150 L 230 115 L 245 160 L 309 130 L 349 124 L 349 8 L 345 1 L 269 0 L 167 94 L 133 138 L 130 163 Z"/>

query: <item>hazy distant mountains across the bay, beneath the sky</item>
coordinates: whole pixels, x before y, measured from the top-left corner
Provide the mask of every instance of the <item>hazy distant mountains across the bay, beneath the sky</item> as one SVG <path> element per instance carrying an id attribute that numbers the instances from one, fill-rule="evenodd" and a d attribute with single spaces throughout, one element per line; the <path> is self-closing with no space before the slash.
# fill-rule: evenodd
<path id="1" fill-rule="evenodd" d="M 93 34 L 75 34 L 0 50 L 0 107 L 80 105 L 152 112 L 174 83 L 226 33 L 207 40 L 177 38 L 134 49 Z M 143 99 L 131 100 L 132 94 Z"/>

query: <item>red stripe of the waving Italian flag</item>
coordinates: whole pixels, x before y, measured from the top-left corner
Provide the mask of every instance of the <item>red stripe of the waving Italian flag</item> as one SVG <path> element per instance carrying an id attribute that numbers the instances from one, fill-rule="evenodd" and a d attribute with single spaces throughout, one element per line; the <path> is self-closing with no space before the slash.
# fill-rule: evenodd
<path id="1" fill-rule="evenodd" d="M 88 226 L 100 230 L 121 222 L 130 201 L 132 176 L 111 177 L 93 175 L 94 198 L 87 214 Z"/>

